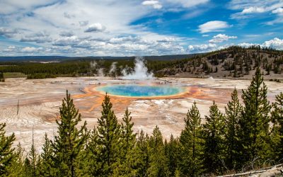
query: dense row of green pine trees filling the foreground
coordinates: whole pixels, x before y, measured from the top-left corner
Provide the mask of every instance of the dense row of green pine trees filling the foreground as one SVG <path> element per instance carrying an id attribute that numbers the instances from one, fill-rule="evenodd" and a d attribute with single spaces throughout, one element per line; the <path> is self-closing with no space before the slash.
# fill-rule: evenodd
<path id="1" fill-rule="evenodd" d="M 215 176 L 282 164 L 283 93 L 270 103 L 258 68 L 242 99 L 235 89 L 225 113 L 213 102 L 204 124 L 193 103 L 180 136 L 164 140 L 157 125 L 152 135 L 134 133 L 127 108 L 119 123 L 107 95 L 98 125 L 79 127 L 67 92 L 57 134 L 45 135 L 41 154 L 34 143 L 28 152 L 11 148 L 15 135 L 0 125 L 0 176 Z"/>

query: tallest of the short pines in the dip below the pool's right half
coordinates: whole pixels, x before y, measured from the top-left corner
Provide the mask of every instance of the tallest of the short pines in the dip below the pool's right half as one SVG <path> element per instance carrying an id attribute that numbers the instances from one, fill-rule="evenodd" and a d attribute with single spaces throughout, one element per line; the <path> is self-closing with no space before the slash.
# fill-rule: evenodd
<path id="1" fill-rule="evenodd" d="M 149 139 L 149 154 L 148 176 L 170 176 L 163 137 L 157 126 Z"/>

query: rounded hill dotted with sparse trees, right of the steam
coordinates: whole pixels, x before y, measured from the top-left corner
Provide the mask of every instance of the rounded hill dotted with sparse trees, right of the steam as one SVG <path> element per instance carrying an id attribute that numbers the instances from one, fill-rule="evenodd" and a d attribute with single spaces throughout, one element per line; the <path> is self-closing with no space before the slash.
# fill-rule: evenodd
<path id="1" fill-rule="evenodd" d="M 262 74 L 267 77 L 281 78 L 283 51 L 258 46 L 249 48 L 233 46 L 175 62 L 157 73 L 177 76 L 250 78 L 257 67 L 260 67 Z"/>

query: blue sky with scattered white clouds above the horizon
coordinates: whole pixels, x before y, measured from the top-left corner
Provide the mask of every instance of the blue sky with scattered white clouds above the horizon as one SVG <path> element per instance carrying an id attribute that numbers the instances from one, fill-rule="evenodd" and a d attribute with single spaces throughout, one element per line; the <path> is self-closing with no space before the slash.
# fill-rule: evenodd
<path id="1" fill-rule="evenodd" d="M 283 0 L 2 0 L 0 55 L 283 50 Z"/>

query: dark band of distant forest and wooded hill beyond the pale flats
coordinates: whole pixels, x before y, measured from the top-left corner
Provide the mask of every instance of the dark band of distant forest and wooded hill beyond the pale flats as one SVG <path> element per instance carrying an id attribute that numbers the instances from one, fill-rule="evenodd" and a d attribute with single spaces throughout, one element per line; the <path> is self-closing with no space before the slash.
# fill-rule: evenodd
<path id="1" fill-rule="evenodd" d="M 268 56 L 264 57 L 262 54 L 268 54 Z M 182 56 L 187 55 L 180 55 L 178 58 Z M 205 54 L 188 55 L 183 59 L 168 59 L 166 56 L 164 60 L 151 58 L 153 59 L 145 60 L 146 67 L 155 76 L 175 75 L 182 72 L 210 74 L 219 72 L 221 69 L 228 71 L 229 76 L 238 77 L 249 74 L 250 70 L 257 67 L 265 69 L 267 74 L 270 74 L 271 71 L 275 74 L 283 72 L 283 52 L 260 46 L 248 48 L 232 46 Z M 111 70 L 113 64 L 114 71 Z M 21 72 L 30 78 L 37 78 L 42 74 L 46 76 L 91 76 L 93 74 L 122 76 L 123 70 L 129 73 L 133 69 L 134 57 L 125 57 L 125 59 L 121 57 L 116 60 L 86 57 L 56 63 L 0 62 L 0 72 Z"/>

